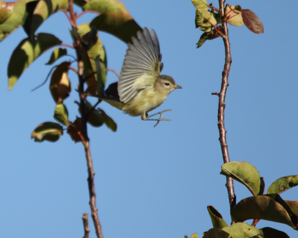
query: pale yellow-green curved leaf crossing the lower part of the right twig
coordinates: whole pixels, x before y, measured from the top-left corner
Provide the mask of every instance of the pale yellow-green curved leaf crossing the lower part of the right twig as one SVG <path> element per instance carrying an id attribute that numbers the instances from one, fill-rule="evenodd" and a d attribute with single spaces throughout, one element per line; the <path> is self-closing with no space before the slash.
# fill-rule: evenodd
<path id="1" fill-rule="evenodd" d="M 260 174 L 254 166 L 247 162 L 226 163 L 221 166 L 221 174 L 244 184 L 254 196 L 260 192 Z"/>

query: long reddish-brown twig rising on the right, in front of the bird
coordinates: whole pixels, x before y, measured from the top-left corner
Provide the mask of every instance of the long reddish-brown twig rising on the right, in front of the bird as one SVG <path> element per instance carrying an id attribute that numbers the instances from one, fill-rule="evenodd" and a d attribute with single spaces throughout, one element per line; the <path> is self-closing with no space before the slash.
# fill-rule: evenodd
<path id="1" fill-rule="evenodd" d="M 226 107 L 225 99 L 226 99 L 226 90 L 229 86 L 228 77 L 232 63 L 231 57 L 231 49 L 229 42 L 229 32 L 226 23 L 226 15 L 224 13 L 224 0 L 219 0 L 219 13 L 221 15 L 222 28 L 224 32 L 224 47 L 225 47 L 225 55 L 226 60 L 224 64 L 224 70 L 222 72 L 222 81 L 221 81 L 221 91 L 218 93 L 218 130 L 219 130 L 219 141 L 221 143 L 221 153 L 223 155 L 224 163 L 229 163 L 229 151 L 228 145 L 226 142 L 226 129 L 224 126 L 224 109 Z M 236 205 L 236 196 L 234 193 L 234 184 L 233 179 L 230 177 L 226 177 L 226 188 L 228 190 L 229 203 L 230 203 L 230 211 L 232 211 L 233 207 Z M 233 222 L 233 221 L 232 221 Z"/>

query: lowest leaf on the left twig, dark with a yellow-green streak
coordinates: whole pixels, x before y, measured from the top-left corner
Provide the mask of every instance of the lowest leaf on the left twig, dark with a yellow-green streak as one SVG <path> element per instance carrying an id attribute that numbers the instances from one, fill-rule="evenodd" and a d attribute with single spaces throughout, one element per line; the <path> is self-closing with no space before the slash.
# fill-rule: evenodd
<path id="1" fill-rule="evenodd" d="M 31 134 L 31 139 L 35 142 L 44 140 L 55 142 L 63 135 L 63 128 L 60 124 L 54 122 L 45 122 L 34 129 Z"/>

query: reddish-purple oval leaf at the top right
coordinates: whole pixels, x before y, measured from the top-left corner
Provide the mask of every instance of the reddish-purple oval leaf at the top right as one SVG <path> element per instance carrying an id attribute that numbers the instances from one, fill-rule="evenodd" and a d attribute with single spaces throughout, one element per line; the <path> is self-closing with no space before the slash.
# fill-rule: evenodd
<path id="1" fill-rule="evenodd" d="M 264 33 L 263 23 L 253 11 L 249 9 L 242 9 L 241 15 L 244 24 L 250 31 L 256 34 Z"/>

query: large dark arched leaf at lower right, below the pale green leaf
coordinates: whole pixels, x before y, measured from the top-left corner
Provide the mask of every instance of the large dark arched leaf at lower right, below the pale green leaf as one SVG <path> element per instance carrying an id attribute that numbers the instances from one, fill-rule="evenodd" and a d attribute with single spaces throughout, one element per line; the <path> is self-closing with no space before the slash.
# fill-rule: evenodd
<path id="1" fill-rule="evenodd" d="M 249 219 L 263 219 L 283 223 L 296 228 L 285 208 L 280 203 L 265 195 L 244 198 L 232 210 L 231 216 L 235 222 Z"/>

